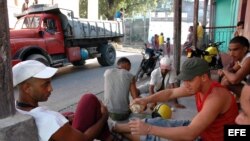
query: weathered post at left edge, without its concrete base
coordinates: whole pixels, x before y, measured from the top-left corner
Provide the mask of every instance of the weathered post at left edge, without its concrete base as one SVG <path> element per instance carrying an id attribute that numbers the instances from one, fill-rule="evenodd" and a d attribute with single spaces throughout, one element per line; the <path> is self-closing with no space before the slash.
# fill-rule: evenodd
<path id="1" fill-rule="evenodd" d="M 0 0 L 0 119 L 15 114 L 7 0 Z"/>

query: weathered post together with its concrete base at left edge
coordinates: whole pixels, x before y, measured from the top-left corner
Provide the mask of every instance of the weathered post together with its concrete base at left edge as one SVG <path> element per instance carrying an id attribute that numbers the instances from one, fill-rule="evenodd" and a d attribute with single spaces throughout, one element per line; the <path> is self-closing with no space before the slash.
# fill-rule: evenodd
<path id="1" fill-rule="evenodd" d="M 9 35 L 7 0 L 0 0 L 0 140 L 38 141 L 34 119 L 16 113 Z"/>

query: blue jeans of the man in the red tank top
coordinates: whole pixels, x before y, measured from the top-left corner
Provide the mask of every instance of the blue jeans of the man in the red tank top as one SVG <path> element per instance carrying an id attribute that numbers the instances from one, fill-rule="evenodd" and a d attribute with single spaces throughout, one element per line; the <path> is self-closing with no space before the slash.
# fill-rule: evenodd
<path id="1" fill-rule="evenodd" d="M 160 126 L 160 127 L 179 127 L 179 126 L 188 126 L 190 124 L 189 120 L 173 120 L 173 119 L 162 119 L 160 117 L 157 118 L 146 118 L 145 123 Z M 163 141 L 166 139 L 161 139 L 158 136 L 154 135 L 144 135 L 140 136 L 141 141 Z"/>

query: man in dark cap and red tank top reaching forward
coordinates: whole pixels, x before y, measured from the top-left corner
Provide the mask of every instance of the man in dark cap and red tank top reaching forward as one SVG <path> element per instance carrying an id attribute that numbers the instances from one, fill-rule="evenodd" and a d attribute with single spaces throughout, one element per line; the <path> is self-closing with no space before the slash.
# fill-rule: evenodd
<path id="1" fill-rule="evenodd" d="M 210 79 L 209 66 L 200 58 L 187 59 L 182 64 L 178 79 L 183 81 L 179 88 L 165 89 L 145 98 L 135 99 L 132 104 L 147 105 L 166 102 L 173 98 L 195 96 L 198 113 L 192 121 L 164 120 L 161 118 L 133 120 L 127 126 L 116 124 L 114 131 L 131 133 L 130 140 L 160 141 L 195 140 L 222 141 L 224 125 L 234 124 L 238 107 L 234 96 L 219 83 Z"/>

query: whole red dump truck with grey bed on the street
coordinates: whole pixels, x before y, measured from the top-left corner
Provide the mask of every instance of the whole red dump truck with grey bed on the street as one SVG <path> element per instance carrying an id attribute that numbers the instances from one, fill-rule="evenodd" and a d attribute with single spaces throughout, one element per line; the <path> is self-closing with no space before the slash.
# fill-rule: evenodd
<path id="1" fill-rule="evenodd" d="M 110 66 L 116 60 L 111 42 L 124 35 L 122 22 L 78 19 L 57 5 L 34 5 L 16 17 L 10 30 L 13 65 L 38 60 L 48 66 L 65 61 L 80 66 L 97 57 L 100 65 Z"/>

